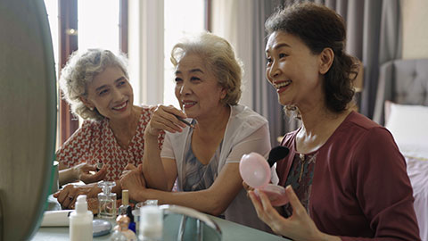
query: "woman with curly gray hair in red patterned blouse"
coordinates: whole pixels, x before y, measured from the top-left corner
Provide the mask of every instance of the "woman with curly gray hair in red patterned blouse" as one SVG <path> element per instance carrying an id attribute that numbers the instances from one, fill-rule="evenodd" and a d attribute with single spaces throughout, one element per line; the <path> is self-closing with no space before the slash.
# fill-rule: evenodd
<path id="1" fill-rule="evenodd" d="M 62 69 L 60 87 L 72 112 L 84 122 L 56 153 L 60 182 L 114 181 L 127 165 L 143 160 L 144 130 L 152 109 L 134 105 L 128 79 L 128 61 L 123 54 L 89 49 L 70 56 Z M 158 139 L 161 145 L 162 135 Z M 103 168 L 90 174 L 95 165 Z M 91 196 L 99 191 L 95 185 L 66 187 L 55 196 L 68 207 L 78 194 Z"/>

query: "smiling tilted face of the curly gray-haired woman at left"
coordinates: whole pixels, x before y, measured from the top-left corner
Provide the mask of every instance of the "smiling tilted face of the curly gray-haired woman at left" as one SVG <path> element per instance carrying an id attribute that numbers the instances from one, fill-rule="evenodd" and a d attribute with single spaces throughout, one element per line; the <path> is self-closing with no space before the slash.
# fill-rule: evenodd
<path id="1" fill-rule="evenodd" d="M 131 114 L 134 95 L 125 74 L 117 66 L 107 67 L 87 85 L 87 107 L 96 108 L 109 119 L 127 118 Z"/>

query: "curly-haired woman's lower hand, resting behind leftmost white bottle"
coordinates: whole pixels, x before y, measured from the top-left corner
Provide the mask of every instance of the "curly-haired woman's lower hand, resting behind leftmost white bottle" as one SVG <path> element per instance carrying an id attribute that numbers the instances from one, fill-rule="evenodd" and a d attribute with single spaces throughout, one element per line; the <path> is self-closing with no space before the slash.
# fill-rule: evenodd
<path id="1" fill-rule="evenodd" d="M 73 186 L 67 185 L 62 190 L 53 194 L 53 197 L 56 197 L 58 202 L 62 205 L 64 209 L 72 209 L 74 203 L 78 199 L 78 195 L 86 195 L 86 199 L 91 197 L 97 197 L 97 194 L 101 192 L 100 187 L 95 185 L 86 185 L 86 186 Z"/>

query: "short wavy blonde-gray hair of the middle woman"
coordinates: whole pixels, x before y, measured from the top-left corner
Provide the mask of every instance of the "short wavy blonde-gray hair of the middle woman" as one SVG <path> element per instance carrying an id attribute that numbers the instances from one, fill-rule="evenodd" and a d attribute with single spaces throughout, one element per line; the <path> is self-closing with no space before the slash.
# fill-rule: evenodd
<path id="1" fill-rule="evenodd" d="M 177 68 L 185 54 L 197 54 L 204 60 L 205 66 L 213 71 L 218 84 L 226 88 L 226 97 L 222 103 L 235 105 L 241 98 L 243 77 L 242 63 L 235 57 L 234 48 L 223 37 L 203 32 L 194 38 L 177 43 L 171 51 L 171 62 Z"/>

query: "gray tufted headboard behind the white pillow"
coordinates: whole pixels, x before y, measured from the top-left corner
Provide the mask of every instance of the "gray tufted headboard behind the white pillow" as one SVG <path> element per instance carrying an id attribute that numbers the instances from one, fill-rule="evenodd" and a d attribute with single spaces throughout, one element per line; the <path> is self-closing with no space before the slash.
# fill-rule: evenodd
<path id="1" fill-rule="evenodd" d="M 384 124 L 384 103 L 428 105 L 428 59 L 395 60 L 381 66 L 374 121 Z"/>

